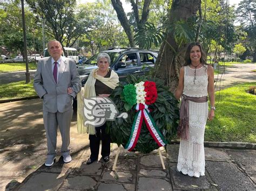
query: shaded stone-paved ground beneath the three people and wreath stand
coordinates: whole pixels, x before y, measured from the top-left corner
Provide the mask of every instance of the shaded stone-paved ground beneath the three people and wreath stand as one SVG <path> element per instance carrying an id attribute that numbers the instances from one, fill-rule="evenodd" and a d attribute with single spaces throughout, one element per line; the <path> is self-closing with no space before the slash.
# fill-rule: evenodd
<path id="1" fill-rule="evenodd" d="M 58 153 L 52 167 L 45 167 L 46 139 L 42 100 L 0 104 L 0 190 L 256 190 L 256 151 L 205 147 L 206 175 L 197 178 L 176 171 L 179 145 L 162 150 L 166 170 L 157 151 L 150 154 L 122 151 L 116 177 L 111 169 L 117 145 L 112 144 L 109 162 L 86 165 L 87 135 L 71 124 L 71 155 L 64 164 Z M 58 135 L 57 148 L 60 149 Z"/>

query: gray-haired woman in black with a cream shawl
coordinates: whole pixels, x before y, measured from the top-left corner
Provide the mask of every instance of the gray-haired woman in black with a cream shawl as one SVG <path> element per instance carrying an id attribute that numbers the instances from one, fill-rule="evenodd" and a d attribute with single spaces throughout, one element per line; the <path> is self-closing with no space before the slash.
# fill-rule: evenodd
<path id="1" fill-rule="evenodd" d="M 112 90 L 118 86 L 119 77 L 116 72 L 109 69 L 110 56 L 107 53 L 99 53 L 97 56 L 98 68 L 92 70 L 84 88 L 77 95 L 77 128 L 78 133 L 89 133 L 90 140 L 90 158 L 87 159 L 86 164 L 90 165 L 92 162 L 98 160 L 99 144 L 102 140 L 102 158 L 105 162 L 109 161 L 110 155 L 110 135 L 105 131 L 106 123 L 102 126 L 94 126 L 86 123 L 86 117 L 83 115 L 84 98 L 90 97 L 109 97 Z"/>

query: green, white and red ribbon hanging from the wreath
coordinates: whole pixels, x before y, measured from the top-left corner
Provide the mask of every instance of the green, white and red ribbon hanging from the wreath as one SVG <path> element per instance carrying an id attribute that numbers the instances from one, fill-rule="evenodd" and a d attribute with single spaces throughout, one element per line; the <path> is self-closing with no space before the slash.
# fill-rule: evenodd
<path id="1" fill-rule="evenodd" d="M 150 115 L 150 111 L 147 108 L 148 107 L 146 104 L 138 103 L 136 105 L 136 110 L 138 112 L 134 117 L 129 141 L 124 147 L 128 151 L 132 151 L 133 148 L 136 146 L 139 139 L 140 130 L 142 129 L 143 121 L 145 121 L 147 129 L 149 130 L 151 136 L 153 137 L 153 139 L 155 140 L 159 147 L 167 144 L 166 140 L 164 139 L 164 136 L 157 128 L 156 123 L 154 123 L 154 119 Z"/>

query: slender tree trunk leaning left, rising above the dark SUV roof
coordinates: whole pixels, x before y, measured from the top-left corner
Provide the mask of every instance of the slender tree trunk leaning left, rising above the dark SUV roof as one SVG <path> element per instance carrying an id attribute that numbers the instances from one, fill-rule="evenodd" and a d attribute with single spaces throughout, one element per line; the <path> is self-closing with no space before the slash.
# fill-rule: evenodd
<path id="1" fill-rule="evenodd" d="M 129 39 L 130 46 L 135 47 L 134 37 L 133 37 L 132 30 L 131 30 L 131 26 L 130 26 L 128 19 L 126 17 L 126 14 L 124 12 L 121 1 L 120 0 L 111 0 L 111 2 L 112 2 L 114 10 L 116 10 L 116 12 L 117 12 L 117 18 L 118 18 L 120 24 L 123 26 L 124 31 Z"/>

